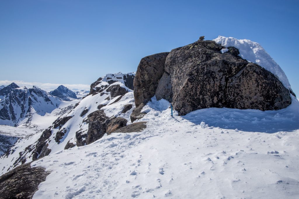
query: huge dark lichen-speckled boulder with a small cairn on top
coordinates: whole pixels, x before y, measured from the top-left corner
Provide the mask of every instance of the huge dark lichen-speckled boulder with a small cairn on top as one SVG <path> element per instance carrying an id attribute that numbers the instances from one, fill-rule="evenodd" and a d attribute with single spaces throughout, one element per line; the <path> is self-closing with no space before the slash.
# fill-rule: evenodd
<path id="1" fill-rule="evenodd" d="M 173 102 L 179 115 L 209 107 L 277 110 L 291 103 L 289 90 L 271 72 L 237 56 L 238 49 L 229 47 L 221 53 L 223 48 L 214 41 L 197 41 L 173 49 L 158 81 L 156 98 Z M 136 77 L 144 69 L 138 70 Z M 140 93 L 147 86 L 137 89 Z"/>

